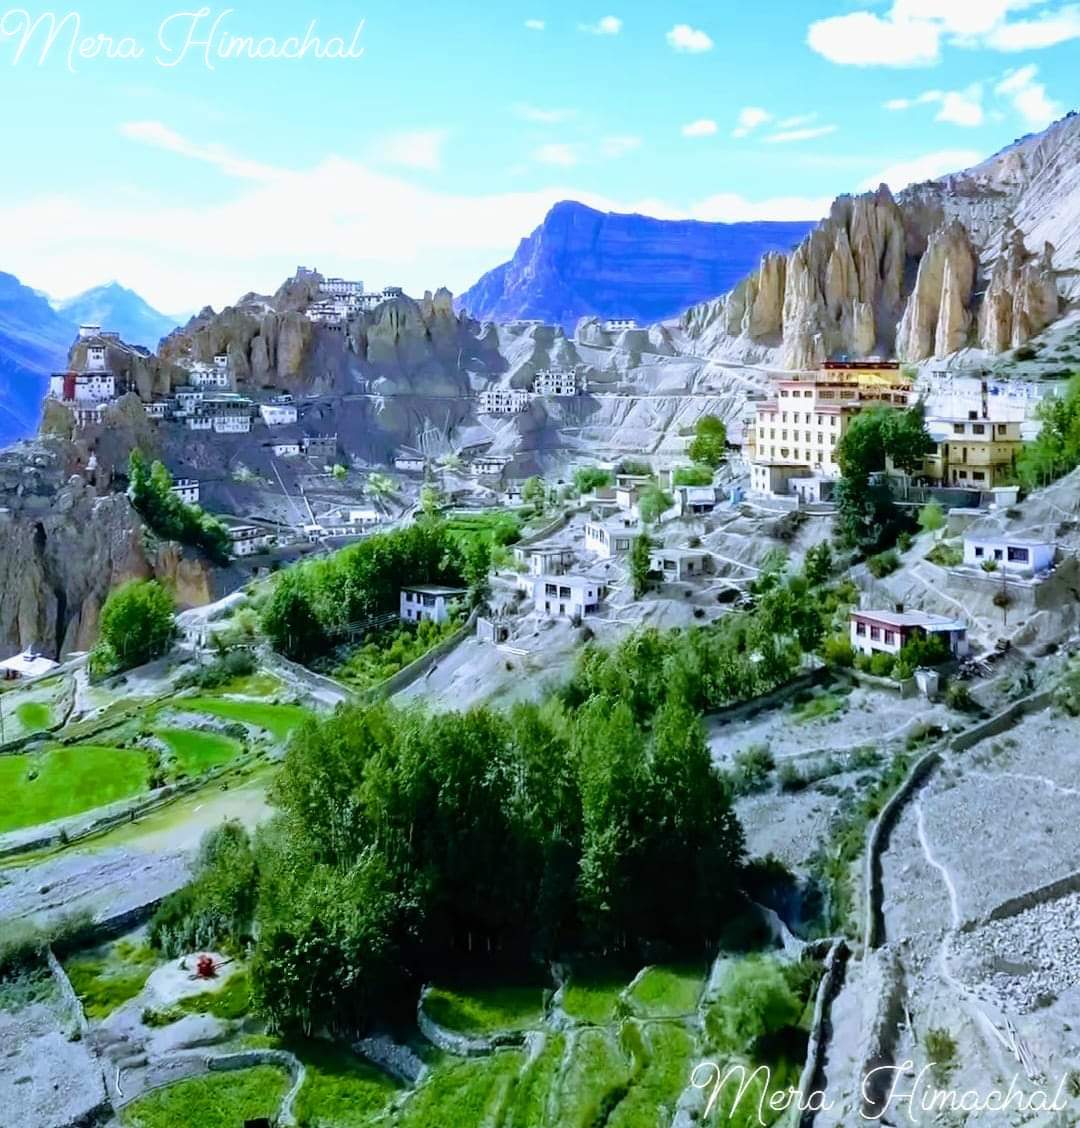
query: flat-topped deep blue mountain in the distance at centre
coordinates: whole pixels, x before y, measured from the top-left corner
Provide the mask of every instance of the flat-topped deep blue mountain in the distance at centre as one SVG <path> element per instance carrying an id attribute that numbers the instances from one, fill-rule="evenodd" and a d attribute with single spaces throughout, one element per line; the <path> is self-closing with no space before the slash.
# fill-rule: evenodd
<path id="1" fill-rule="evenodd" d="M 480 320 L 568 331 L 580 317 L 659 321 L 730 290 L 765 252 L 791 250 L 813 226 L 651 219 L 568 200 L 456 305 Z"/>

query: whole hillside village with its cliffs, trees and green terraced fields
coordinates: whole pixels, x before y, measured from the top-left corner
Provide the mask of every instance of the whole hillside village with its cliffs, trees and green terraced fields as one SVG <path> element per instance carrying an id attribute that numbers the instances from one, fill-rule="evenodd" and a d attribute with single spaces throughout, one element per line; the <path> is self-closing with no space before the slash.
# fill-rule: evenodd
<path id="1" fill-rule="evenodd" d="M 990 167 L 651 326 L 81 326 L 0 453 L 12 1122 L 1075 1122 L 1080 312 Z"/>

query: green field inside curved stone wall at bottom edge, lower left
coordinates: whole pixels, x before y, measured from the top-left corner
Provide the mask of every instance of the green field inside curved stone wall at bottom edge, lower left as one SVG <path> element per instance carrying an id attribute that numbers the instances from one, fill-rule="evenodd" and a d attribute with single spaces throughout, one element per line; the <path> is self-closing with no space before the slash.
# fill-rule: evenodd
<path id="1" fill-rule="evenodd" d="M 124 1128 L 238 1128 L 256 1117 L 273 1118 L 289 1089 L 281 1069 L 211 1073 L 179 1081 L 140 1098 L 121 1113 Z"/>

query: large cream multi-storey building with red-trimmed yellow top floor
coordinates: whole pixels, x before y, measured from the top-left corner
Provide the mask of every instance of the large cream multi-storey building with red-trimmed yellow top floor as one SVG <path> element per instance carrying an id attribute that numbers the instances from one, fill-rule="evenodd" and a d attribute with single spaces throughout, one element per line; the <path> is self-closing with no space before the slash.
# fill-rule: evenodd
<path id="1" fill-rule="evenodd" d="M 792 478 L 840 474 L 836 448 L 864 407 L 906 406 L 912 381 L 889 361 L 828 361 L 813 377 L 775 381 L 775 399 L 756 405 L 744 453 L 750 488 L 782 493 Z"/>

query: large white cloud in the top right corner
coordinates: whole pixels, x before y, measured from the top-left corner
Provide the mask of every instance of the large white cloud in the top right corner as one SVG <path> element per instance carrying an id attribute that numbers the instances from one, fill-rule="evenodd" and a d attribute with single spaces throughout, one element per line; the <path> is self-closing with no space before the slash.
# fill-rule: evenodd
<path id="1" fill-rule="evenodd" d="M 1080 5 L 1035 19 L 1010 20 L 1045 0 L 894 0 L 884 16 L 853 11 L 818 19 L 807 43 L 831 62 L 849 67 L 929 67 L 942 42 L 960 47 L 1029 51 L 1080 37 Z"/>

